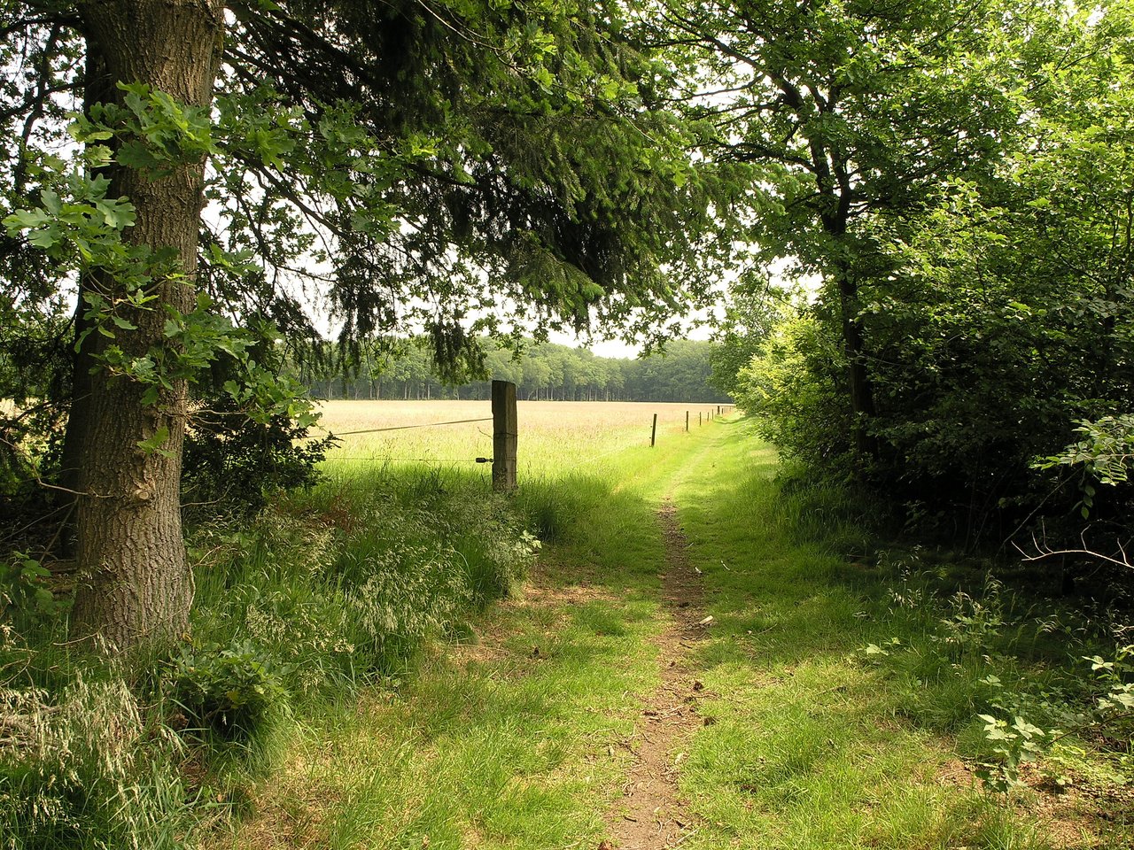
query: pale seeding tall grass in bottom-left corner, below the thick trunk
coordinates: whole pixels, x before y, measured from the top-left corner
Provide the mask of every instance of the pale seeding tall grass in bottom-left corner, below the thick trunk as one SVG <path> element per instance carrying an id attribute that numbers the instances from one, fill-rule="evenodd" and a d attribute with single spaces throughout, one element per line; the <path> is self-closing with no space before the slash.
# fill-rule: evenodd
<path id="1" fill-rule="evenodd" d="M 6 636 L 3 655 L 25 647 Z M 181 745 L 152 726 L 120 671 L 75 668 L 51 690 L 0 683 L 0 847 L 179 847 Z"/>

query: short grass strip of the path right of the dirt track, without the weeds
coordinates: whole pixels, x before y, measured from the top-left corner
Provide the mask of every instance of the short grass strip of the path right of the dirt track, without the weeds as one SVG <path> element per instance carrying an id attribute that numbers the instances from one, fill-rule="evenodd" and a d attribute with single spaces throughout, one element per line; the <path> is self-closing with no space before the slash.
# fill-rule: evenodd
<path id="1" fill-rule="evenodd" d="M 1029 830 L 971 789 L 950 742 L 899 720 L 856 653 L 872 631 L 862 568 L 794 539 L 775 458 L 721 428 L 676 488 L 703 570 L 712 638 L 695 664 L 711 724 L 682 774 L 689 848 L 1015 848 Z"/>

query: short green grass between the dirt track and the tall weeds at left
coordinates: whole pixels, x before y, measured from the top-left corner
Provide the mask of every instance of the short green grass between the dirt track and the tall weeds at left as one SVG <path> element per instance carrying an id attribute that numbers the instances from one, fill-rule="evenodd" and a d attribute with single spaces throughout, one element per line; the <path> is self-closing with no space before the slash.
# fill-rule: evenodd
<path id="1" fill-rule="evenodd" d="M 679 468 L 697 445 L 629 450 L 612 479 Z M 296 821 L 331 848 L 596 843 L 631 758 L 635 695 L 658 681 L 665 549 L 649 495 L 578 471 L 525 486 L 517 507 L 555 541 L 539 589 L 491 610 L 472 644 L 438 651 L 396 691 L 311 721 L 259 817 L 217 844 Z"/>

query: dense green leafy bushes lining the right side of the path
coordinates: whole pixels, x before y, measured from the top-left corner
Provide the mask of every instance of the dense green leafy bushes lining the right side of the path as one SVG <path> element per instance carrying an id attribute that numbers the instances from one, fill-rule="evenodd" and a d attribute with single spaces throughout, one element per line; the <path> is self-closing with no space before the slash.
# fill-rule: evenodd
<path id="1" fill-rule="evenodd" d="M 941 172 L 914 203 L 870 210 L 863 196 L 848 241 L 815 246 L 812 267 L 828 272 L 815 301 L 771 334 L 744 399 L 812 475 L 869 470 L 879 492 L 967 547 L 1040 520 L 1055 549 L 1081 547 L 1084 519 L 1131 538 L 1134 490 L 1120 482 L 1134 397 L 1128 19 L 1122 3 L 1103 3 L 1006 48 L 1022 51 L 1005 66 L 1012 75 L 1055 82 L 995 83 L 1006 86 L 999 105 L 1018 110 L 988 136 L 1004 145 L 997 155 Z M 1093 59 L 1053 74 L 1066 50 Z M 801 321 L 816 331 L 802 333 Z M 854 382 L 847 350 L 861 351 Z M 869 439 L 850 445 L 855 426 Z M 860 462 L 847 462 L 848 445 Z M 1122 485 L 1103 490 L 1103 479 Z M 1091 549 L 1098 529 L 1088 530 Z"/>

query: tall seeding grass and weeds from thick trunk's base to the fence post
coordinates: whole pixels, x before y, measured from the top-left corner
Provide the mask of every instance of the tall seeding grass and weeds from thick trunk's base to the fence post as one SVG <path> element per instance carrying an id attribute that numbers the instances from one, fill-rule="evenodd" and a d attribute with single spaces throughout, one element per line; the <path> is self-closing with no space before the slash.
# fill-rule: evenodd
<path id="1" fill-rule="evenodd" d="M 459 638 L 514 587 L 539 543 L 481 481 L 387 469 L 203 522 L 188 546 L 189 635 L 130 666 L 68 646 L 65 604 L 17 610 L 43 602 L 26 558 L 3 573 L 3 850 L 192 843 L 242 810 L 299 717 L 397 687 L 425 643 Z"/>

